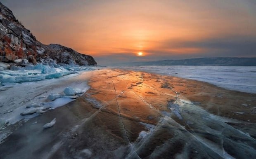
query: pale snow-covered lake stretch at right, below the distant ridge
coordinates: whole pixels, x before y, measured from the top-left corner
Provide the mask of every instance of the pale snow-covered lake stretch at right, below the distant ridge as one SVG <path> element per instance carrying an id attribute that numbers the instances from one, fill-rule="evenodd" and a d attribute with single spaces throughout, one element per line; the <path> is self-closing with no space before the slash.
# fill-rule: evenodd
<path id="1" fill-rule="evenodd" d="M 256 93 L 255 66 L 119 66 L 118 68 L 152 72 L 214 84 L 225 89 Z"/>

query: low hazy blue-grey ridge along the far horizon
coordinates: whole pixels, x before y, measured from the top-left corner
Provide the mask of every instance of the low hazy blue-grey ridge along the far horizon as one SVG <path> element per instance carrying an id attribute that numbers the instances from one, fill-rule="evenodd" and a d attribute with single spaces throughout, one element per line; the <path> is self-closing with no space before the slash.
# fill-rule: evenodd
<path id="1" fill-rule="evenodd" d="M 161 60 L 148 62 L 119 63 L 116 65 L 237 65 L 237 66 L 256 66 L 256 57 L 214 57 L 214 58 L 190 58 L 183 60 Z"/>

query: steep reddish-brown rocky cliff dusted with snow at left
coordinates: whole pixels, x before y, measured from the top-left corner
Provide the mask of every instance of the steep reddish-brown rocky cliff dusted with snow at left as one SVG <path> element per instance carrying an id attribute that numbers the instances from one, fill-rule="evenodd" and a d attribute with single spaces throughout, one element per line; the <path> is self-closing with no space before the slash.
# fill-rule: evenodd
<path id="1" fill-rule="evenodd" d="M 33 64 L 56 60 L 57 63 L 97 65 L 92 56 L 80 54 L 59 44 L 42 44 L 1 2 L 0 49 L 0 62 L 5 63 L 17 64 L 20 61 L 17 59 L 26 59 Z"/>

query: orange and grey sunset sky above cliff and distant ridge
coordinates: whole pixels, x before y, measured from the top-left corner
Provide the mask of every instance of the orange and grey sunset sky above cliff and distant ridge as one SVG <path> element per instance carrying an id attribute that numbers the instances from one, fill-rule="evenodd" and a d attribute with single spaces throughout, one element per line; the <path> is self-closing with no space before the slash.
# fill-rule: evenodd
<path id="1" fill-rule="evenodd" d="M 40 42 L 71 47 L 98 65 L 256 57 L 256 0 L 0 1 Z"/>

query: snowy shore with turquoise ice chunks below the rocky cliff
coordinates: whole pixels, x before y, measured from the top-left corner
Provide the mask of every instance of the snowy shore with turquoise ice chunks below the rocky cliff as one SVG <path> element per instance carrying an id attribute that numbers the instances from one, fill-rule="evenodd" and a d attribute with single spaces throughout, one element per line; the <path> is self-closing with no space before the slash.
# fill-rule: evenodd
<path id="1" fill-rule="evenodd" d="M 1 71 L 1 79 L 7 80 L 9 78 L 13 80 L 9 80 L 9 82 L 2 80 L 0 86 L 0 129 L 2 129 L 2 126 L 15 124 L 22 119 L 26 121 L 45 110 L 55 109 L 75 100 L 90 88 L 87 85 L 87 77 L 90 77 L 92 73 L 90 70 L 96 69 L 96 67 L 83 67 L 80 70 L 67 70 L 66 68 L 55 70 L 55 68 L 50 67 L 48 73 L 43 73 L 45 68 L 49 68 L 48 66 L 36 65 L 34 67 L 43 69 Z M 65 75 L 66 73 L 69 75 L 57 78 L 58 75 Z M 52 75 L 52 79 L 47 79 L 50 77 L 49 75 Z M 38 78 L 36 78 L 37 76 Z M 45 79 L 37 81 L 40 79 L 39 77 Z M 19 79 L 23 79 L 24 83 L 16 83 Z M 31 80 L 33 82 L 25 82 Z M 74 94 L 69 94 L 70 91 L 74 91 Z M 75 91 L 79 91 L 77 95 Z M 55 96 L 55 94 L 59 96 L 53 100 L 52 95 Z M 26 115 L 27 113 L 28 115 Z M 4 130 L 0 135 L 0 142 L 10 133 L 8 130 L 6 132 Z"/>

